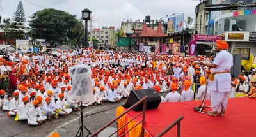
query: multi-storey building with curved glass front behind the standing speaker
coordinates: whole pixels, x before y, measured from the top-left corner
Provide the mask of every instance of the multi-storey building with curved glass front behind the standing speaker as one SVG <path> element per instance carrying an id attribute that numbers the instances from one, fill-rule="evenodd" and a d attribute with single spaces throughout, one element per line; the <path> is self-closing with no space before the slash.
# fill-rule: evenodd
<path id="1" fill-rule="evenodd" d="M 224 40 L 228 42 L 228 51 L 232 54 L 234 48 L 250 48 L 250 52 L 255 55 L 256 8 L 246 6 L 255 4 L 255 2 L 255 0 L 212 0 L 210 4 L 216 4 L 219 7 L 228 4 L 238 4 L 239 7 L 237 10 L 209 11 L 207 34 L 223 36 Z M 207 8 L 205 9 L 207 10 Z"/>

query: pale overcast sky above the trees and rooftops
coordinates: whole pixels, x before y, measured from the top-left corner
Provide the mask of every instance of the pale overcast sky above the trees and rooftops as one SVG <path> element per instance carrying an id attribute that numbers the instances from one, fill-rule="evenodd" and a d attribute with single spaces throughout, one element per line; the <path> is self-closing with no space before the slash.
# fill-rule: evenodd
<path id="1" fill-rule="evenodd" d="M 2 18 L 12 18 L 19 0 L 0 0 Z M 27 1 L 33 3 L 28 3 Z M 81 18 L 81 10 L 88 8 L 99 21 L 93 22 L 93 27 L 120 27 L 122 20 L 143 20 L 150 15 L 156 20 L 173 13 L 184 13 L 184 17 L 195 16 L 195 6 L 200 1 L 193 0 L 22 0 L 27 20 L 29 16 L 43 8 L 56 8 L 67 11 Z M 36 5 L 38 6 L 36 6 Z M 166 21 L 167 18 L 164 18 Z M 192 26 L 191 26 L 192 27 Z"/>

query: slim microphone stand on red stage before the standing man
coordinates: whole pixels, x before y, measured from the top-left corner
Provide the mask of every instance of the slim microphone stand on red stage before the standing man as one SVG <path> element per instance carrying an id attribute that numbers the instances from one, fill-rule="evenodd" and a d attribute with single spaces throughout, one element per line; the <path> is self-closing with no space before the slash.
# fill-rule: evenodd
<path id="1" fill-rule="evenodd" d="M 194 108 L 194 110 L 196 111 L 196 112 L 199 112 L 199 113 L 208 113 L 208 112 L 212 112 L 212 111 L 207 111 L 207 112 L 204 112 L 204 108 L 212 108 L 211 106 L 205 106 L 205 98 L 206 98 L 206 96 L 207 96 L 207 86 L 208 86 L 208 80 L 207 80 L 207 76 L 206 76 L 206 71 L 205 71 L 205 68 L 207 68 L 206 66 L 202 66 L 202 65 L 200 65 L 200 64 L 198 64 L 199 66 L 201 66 L 201 68 L 202 68 L 202 70 L 203 70 L 203 72 L 204 72 L 204 76 L 205 76 L 205 85 L 206 85 L 206 87 L 205 87 L 205 94 L 204 94 L 204 99 L 202 100 L 202 103 L 201 103 L 201 105 L 199 105 L 199 106 L 196 106 L 195 108 Z"/>

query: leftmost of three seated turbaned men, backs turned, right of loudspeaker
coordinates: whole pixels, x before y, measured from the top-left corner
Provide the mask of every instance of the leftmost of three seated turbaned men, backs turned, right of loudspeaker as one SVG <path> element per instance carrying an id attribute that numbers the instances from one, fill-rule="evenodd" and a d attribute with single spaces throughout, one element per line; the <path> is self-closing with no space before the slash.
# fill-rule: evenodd
<path id="1" fill-rule="evenodd" d="M 170 85 L 172 92 L 168 93 L 164 98 L 164 102 L 180 102 L 181 97 L 180 94 L 177 92 L 178 84 L 172 83 Z"/>

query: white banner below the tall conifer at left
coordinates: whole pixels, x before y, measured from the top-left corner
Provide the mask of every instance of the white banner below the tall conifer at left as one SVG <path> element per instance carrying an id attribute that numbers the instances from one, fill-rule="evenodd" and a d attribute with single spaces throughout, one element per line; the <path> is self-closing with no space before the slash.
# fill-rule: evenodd
<path id="1" fill-rule="evenodd" d="M 19 52 L 33 52 L 32 42 L 29 40 L 16 40 L 16 50 Z"/>

